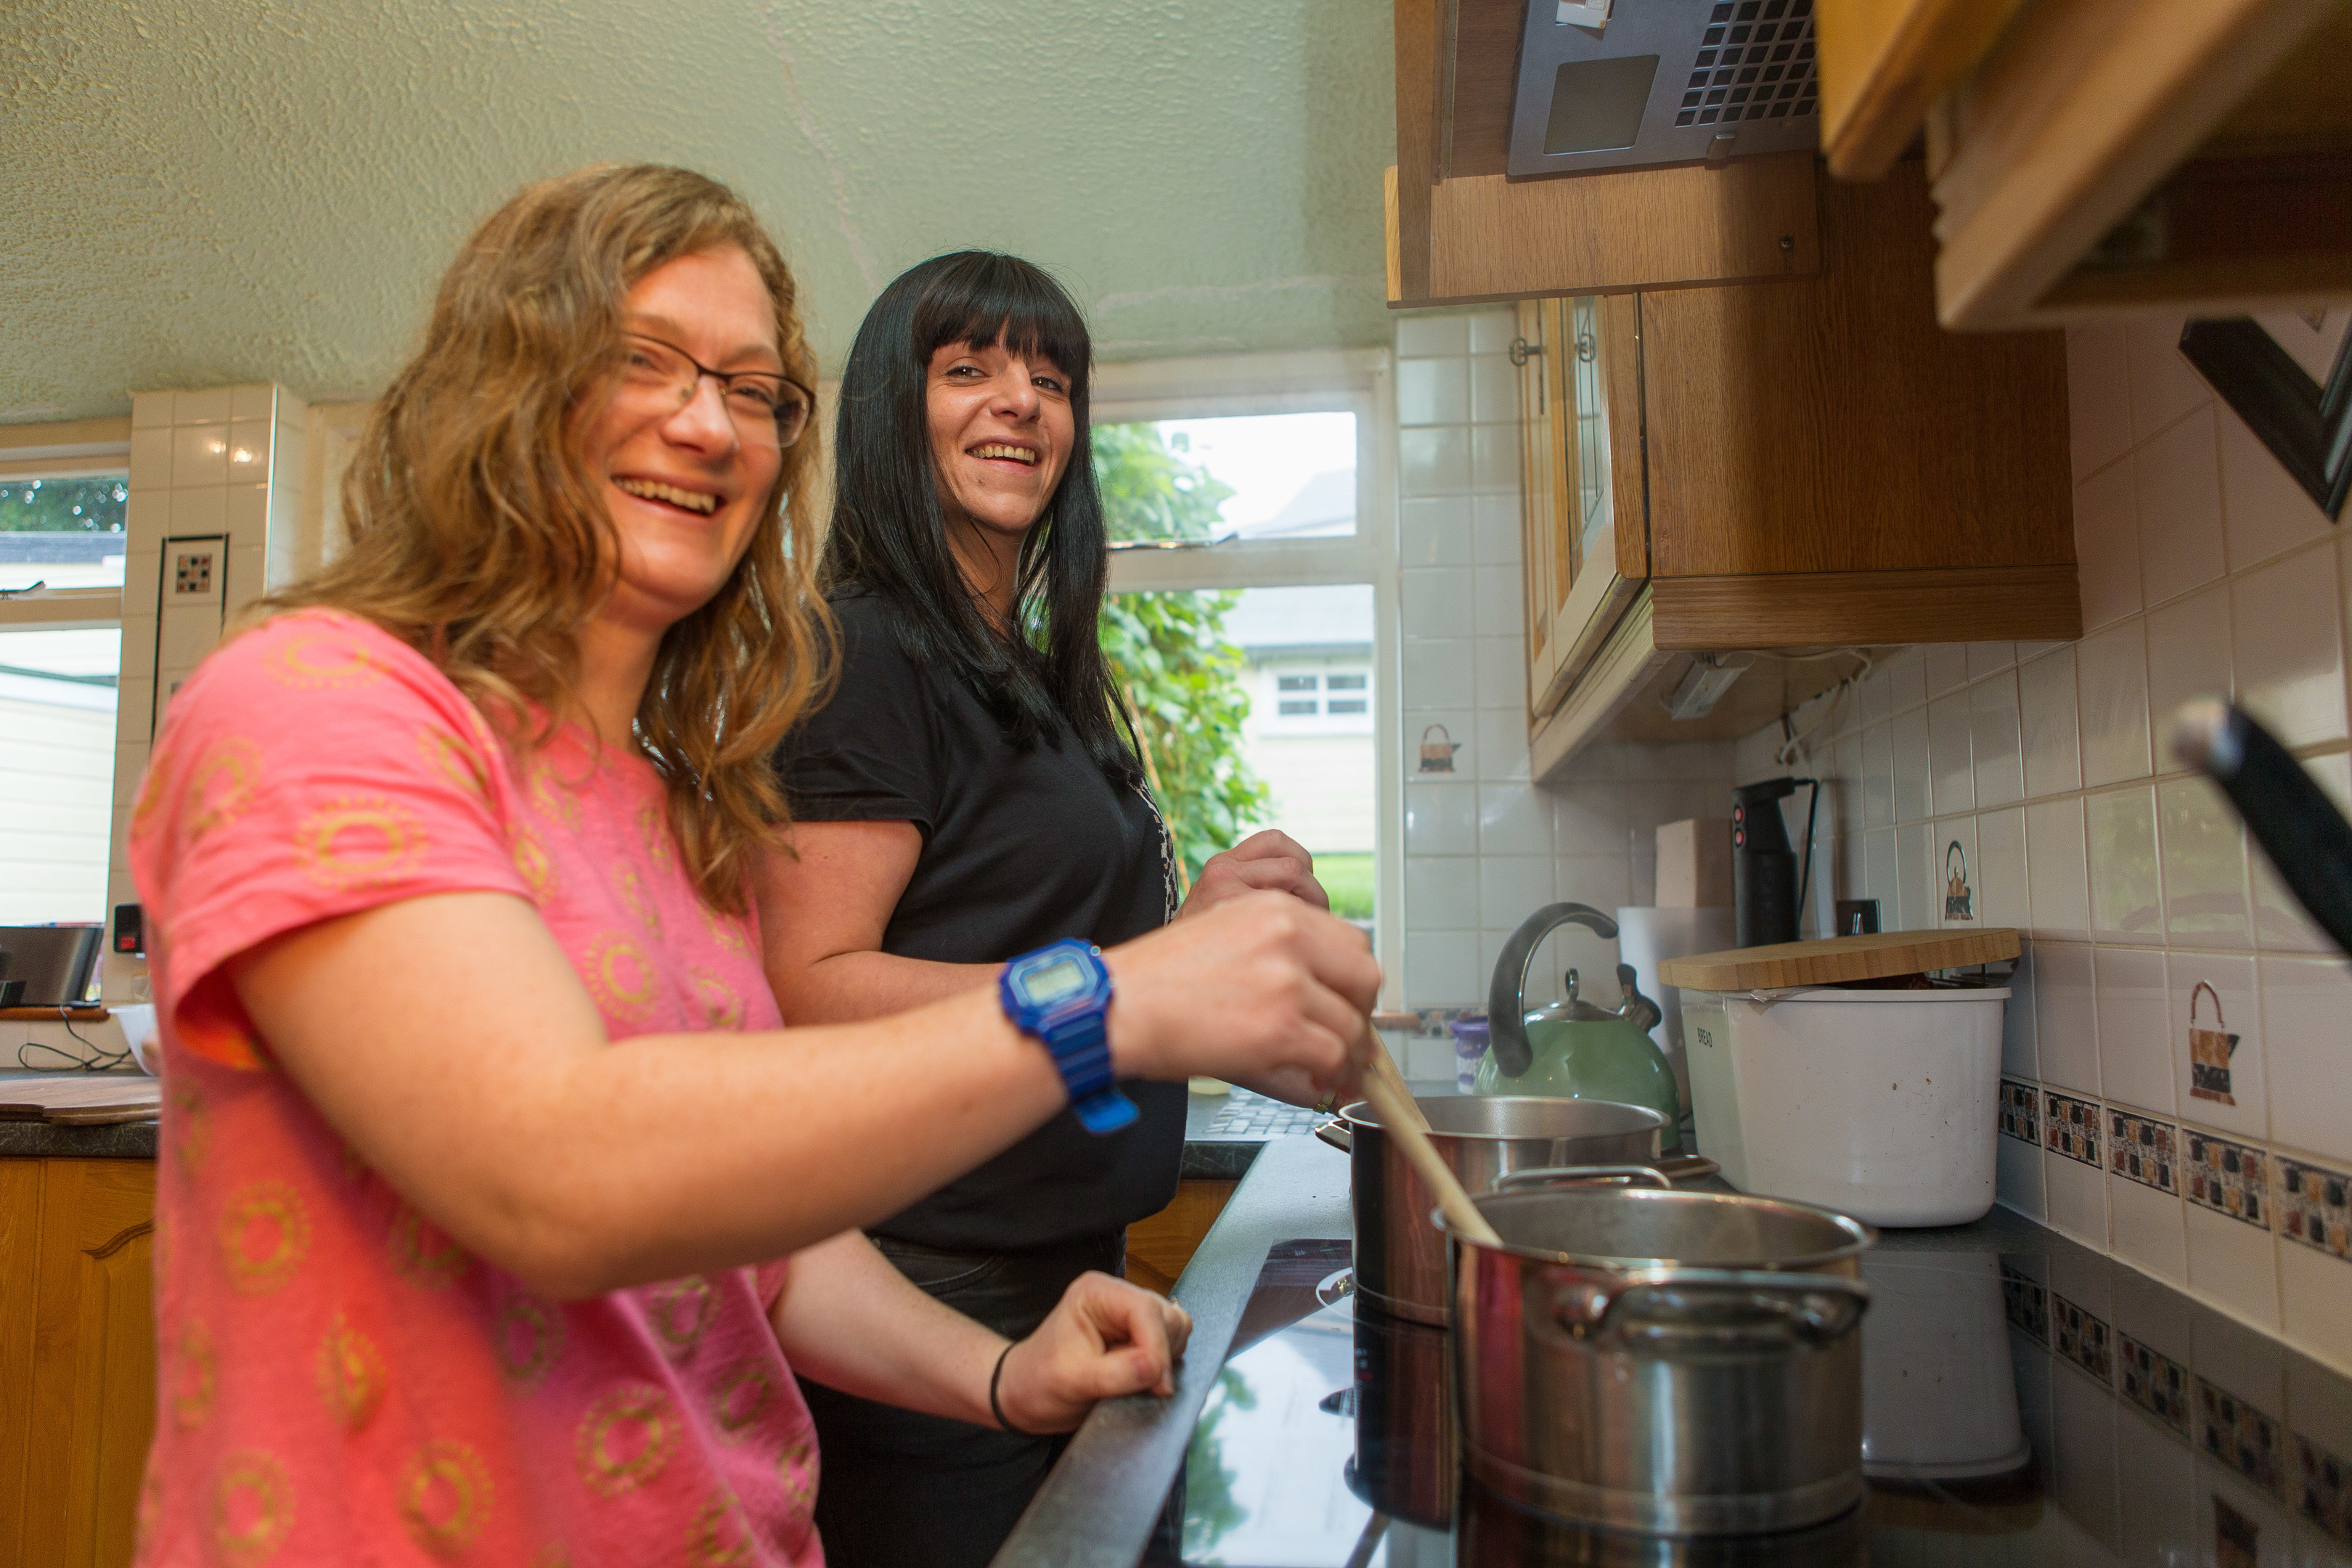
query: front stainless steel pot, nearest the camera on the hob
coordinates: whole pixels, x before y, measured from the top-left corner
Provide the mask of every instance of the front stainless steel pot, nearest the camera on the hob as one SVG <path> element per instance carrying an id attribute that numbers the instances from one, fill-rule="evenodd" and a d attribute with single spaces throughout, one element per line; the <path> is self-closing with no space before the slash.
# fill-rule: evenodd
<path id="1" fill-rule="evenodd" d="M 1477 1481 L 1646 1535 L 1792 1530 L 1863 1500 L 1867 1225 L 1649 1187 L 1475 1201 L 1503 1239 L 1454 1237 L 1454 1387 Z"/>

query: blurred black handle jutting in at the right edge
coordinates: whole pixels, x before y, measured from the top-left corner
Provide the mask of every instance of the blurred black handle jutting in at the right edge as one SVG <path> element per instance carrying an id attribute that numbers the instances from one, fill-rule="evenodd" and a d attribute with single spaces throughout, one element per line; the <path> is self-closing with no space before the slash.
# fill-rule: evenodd
<path id="1" fill-rule="evenodd" d="M 2213 698 L 2180 710 L 2173 755 L 2223 788 L 2286 891 L 2352 952 L 2352 823 L 2303 764 L 2244 708 Z"/>

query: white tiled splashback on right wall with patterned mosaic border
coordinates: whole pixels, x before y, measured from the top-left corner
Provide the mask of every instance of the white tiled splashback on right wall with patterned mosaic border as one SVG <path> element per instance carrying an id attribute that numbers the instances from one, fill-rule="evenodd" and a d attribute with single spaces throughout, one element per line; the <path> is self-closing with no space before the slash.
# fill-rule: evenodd
<path id="1" fill-rule="evenodd" d="M 2164 745 L 2230 693 L 2352 799 L 2352 538 L 2178 336 L 2067 341 L 2082 642 L 1907 649 L 1797 710 L 1835 708 L 1797 771 L 1837 780 L 1839 898 L 2025 931 L 2002 1201 L 2352 1371 L 2352 966 Z"/>

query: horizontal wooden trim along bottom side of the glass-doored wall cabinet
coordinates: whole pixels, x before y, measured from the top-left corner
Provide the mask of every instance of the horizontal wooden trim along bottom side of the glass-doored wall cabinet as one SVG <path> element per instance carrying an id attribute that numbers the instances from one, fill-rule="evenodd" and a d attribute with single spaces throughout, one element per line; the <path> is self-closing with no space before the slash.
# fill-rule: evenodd
<path id="1" fill-rule="evenodd" d="M 1651 578 L 1661 649 L 2074 642 L 2074 564 Z"/>

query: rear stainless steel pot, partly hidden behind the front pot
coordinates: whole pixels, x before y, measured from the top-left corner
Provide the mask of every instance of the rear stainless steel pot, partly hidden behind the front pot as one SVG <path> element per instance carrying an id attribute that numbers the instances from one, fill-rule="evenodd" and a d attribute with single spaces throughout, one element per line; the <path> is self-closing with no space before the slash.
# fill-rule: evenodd
<path id="1" fill-rule="evenodd" d="M 1609 1100 L 1425 1095 L 1414 1103 L 1468 1192 L 1541 1166 L 1649 1166 L 1665 1126 L 1653 1110 Z M 1442 1326 L 1451 1286 L 1446 1239 L 1430 1227 L 1437 1197 L 1369 1105 L 1345 1107 L 1317 1135 L 1348 1150 L 1357 1295 L 1392 1316 Z"/>

